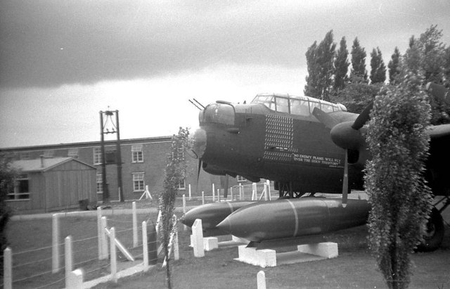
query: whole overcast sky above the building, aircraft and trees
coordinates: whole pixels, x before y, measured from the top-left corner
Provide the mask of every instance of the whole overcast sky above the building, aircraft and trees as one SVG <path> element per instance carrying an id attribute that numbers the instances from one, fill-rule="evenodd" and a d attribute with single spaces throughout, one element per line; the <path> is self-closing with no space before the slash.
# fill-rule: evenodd
<path id="1" fill-rule="evenodd" d="M 0 0 L 0 148 L 98 141 L 108 107 L 122 139 L 194 129 L 189 98 L 303 95 L 329 30 L 387 65 L 435 24 L 450 44 L 449 0 Z"/>

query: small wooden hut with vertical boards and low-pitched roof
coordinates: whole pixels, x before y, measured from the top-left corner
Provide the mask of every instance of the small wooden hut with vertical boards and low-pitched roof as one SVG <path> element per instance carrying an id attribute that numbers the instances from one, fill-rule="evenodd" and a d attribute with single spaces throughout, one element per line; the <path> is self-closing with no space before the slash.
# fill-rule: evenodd
<path id="1" fill-rule="evenodd" d="M 19 213 L 49 212 L 97 201 L 96 167 L 75 158 L 17 160 L 19 175 L 8 205 Z"/>

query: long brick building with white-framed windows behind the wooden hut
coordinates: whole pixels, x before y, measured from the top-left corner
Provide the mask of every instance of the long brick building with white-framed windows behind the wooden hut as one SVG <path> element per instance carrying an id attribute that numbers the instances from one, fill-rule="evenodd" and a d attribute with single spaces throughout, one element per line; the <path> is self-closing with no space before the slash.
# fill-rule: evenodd
<path id="1" fill-rule="evenodd" d="M 162 183 L 164 181 L 164 169 L 166 165 L 166 156 L 170 151 L 171 136 L 160 136 L 142 139 L 122 139 L 120 140 L 120 150 L 122 155 L 122 188 L 124 200 L 137 200 L 141 198 L 145 187 L 152 195 L 158 195 L 162 192 Z M 108 163 L 108 152 L 113 152 L 116 148 L 115 141 L 105 141 L 105 155 Z M 60 143 L 54 145 L 43 146 L 27 146 L 15 148 L 0 148 L 0 153 L 6 155 L 12 160 L 38 160 L 40 158 L 74 158 L 79 162 L 90 167 L 96 168 L 95 173 L 95 190 L 96 200 L 103 200 L 102 179 L 101 174 L 101 144 L 100 141 L 82 142 L 82 143 Z M 207 174 L 202 170 L 200 179 L 197 184 L 198 160 L 190 155 L 185 156 L 188 162 L 187 176 L 180 186 L 181 193 L 188 195 L 189 185 L 191 185 L 191 195 L 193 197 L 200 196 L 204 191 L 205 195 L 212 195 L 212 184 L 216 189 L 224 186 L 219 176 Z M 238 178 L 239 181 L 245 182 L 245 179 Z M 238 179 L 229 179 L 229 186 L 238 184 Z M 108 183 L 108 191 L 110 200 L 119 200 L 119 191 L 117 189 L 117 165 L 106 165 L 106 181 Z M 63 184 L 69 186 L 69 184 Z M 31 187 L 31 186 L 30 186 Z M 46 188 L 49 190 L 53 188 Z M 223 189 L 223 188 L 222 188 Z M 44 192 L 29 192 L 29 201 L 34 198 L 44 198 Z M 26 194 L 25 194 L 26 195 Z M 90 201 L 96 201 L 91 197 Z M 11 200 L 12 203 L 13 200 Z M 26 202 L 27 199 L 21 200 Z M 11 204 L 13 205 L 13 204 Z M 77 207 L 78 203 L 72 203 L 71 207 Z M 18 207 L 18 210 L 26 210 L 26 207 Z M 44 211 L 51 208 L 43 209 Z"/>

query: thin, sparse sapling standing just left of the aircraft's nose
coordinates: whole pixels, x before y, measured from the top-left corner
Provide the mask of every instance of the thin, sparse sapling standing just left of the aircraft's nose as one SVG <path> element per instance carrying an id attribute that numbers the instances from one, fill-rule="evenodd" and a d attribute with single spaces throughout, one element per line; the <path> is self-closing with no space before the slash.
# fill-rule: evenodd
<path id="1" fill-rule="evenodd" d="M 174 215 L 176 193 L 179 184 L 186 177 L 186 160 L 184 151 L 190 148 L 189 131 L 180 127 L 178 135 L 172 136 L 171 152 L 167 155 L 165 169 L 164 192 L 160 195 L 161 218 L 159 223 L 159 236 L 165 253 L 167 288 L 172 288 L 171 269 L 169 263 L 170 247 L 176 233 L 176 216 Z"/>

